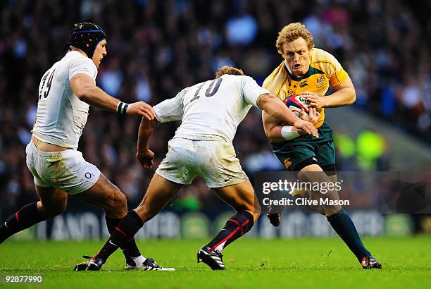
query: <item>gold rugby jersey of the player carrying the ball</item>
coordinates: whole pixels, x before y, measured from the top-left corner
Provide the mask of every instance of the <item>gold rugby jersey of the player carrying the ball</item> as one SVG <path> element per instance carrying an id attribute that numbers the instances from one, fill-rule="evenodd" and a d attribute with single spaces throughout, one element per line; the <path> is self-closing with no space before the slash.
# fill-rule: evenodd
<path id="1" fill-rule="evenodd" d="M 275 68 L 263 82 L 263 87 L 276 97 L 284 100 L 292 94 L 301 92 L 316 92 L 323 96 L 327 89 L 335 87 L 344 80 L 348 74 L 332 54 L 318 48 L 313 48 L 310 53 L 310 68 L 307 73 L 299 78 L 294 77 L 287 69 L 285 61 Z M 320 128 L 325 121 L 325 111 L 320 111 L 320 119 L 316 128 Z"/>

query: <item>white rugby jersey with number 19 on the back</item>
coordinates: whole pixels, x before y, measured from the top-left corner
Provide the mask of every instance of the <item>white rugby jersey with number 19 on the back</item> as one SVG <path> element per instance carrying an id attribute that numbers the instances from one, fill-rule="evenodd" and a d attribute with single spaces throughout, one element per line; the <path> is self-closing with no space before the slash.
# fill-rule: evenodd
<path id="1" fill-rule="evenodd" d="M 93 61 L 77 51 L 69 51 L 42 77 L 32 130 L 42 142 L 77 148 L 89 110 L 89 105 L 78 99 L 70 87 L 70 79 L 78 73 L 89 75 L 95 83 L 97 68 Z"/>

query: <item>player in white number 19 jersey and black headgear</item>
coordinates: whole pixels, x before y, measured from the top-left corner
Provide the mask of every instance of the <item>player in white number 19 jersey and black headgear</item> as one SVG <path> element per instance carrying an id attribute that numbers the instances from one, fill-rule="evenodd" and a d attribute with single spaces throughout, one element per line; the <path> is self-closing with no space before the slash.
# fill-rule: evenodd
<path id="1" fill-rule="evenodd" d="M 149 104 L 125 104 L 96 86 L 97 68 L 107 54 L 106 43 L 98 25 L 75 24 L 65 47 L 68 52 L 42 77 L 32 140 L 25 150 L 39 201 L 25 205 L 2 222 L 0 243 L 63 213 L 68 195 L 104 209 L 110 233 L 127 213 L 125 195 L 77 151 L 89 105 L 154 119 Z M 135 240 L 125 242 L 121 249 L 126 269 L 161 269 L 151 258 L 142 257 Z"/>

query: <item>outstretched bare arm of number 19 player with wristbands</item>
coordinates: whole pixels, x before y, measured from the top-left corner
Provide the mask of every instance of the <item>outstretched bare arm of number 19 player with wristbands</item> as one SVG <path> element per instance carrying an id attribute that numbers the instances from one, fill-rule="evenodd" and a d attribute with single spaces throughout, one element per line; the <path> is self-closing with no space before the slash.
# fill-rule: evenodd
<path id="1" fill-rule="evenodd" d="M 154 119 L 153 108 L 145 102 L 135 102 L 125 104 L 119 99 L 111 97 L 100 87 L 94 84 L 94 80 L 85 73 L 78 73 L 70 79 L 70 87 L 75 92 L 77 98 L 82 102 L 106 111 L 117 111 L 118 113 L 127 113 L 132 116 L 143 116 L 149 120 Z"/>

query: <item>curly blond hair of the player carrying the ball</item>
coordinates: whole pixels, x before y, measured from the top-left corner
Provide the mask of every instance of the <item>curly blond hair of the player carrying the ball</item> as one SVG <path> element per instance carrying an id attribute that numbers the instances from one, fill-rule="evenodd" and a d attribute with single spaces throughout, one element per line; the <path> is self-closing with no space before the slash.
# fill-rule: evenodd
<path id="1" fill-rule="evenodd" d="M 299 37 L 304 38 L 308 49 L 312 49 L 314 47 L 313 35 L 311 35 L 311 32 L 308 31 L 304 24 L 296 22 L 290 23 L 278 32 L 277 41 L 275 42 L 275 47 L 277 47 L 278 53 L 283 54 L 283 44 L 286 42 L 292 42 Z"/>

